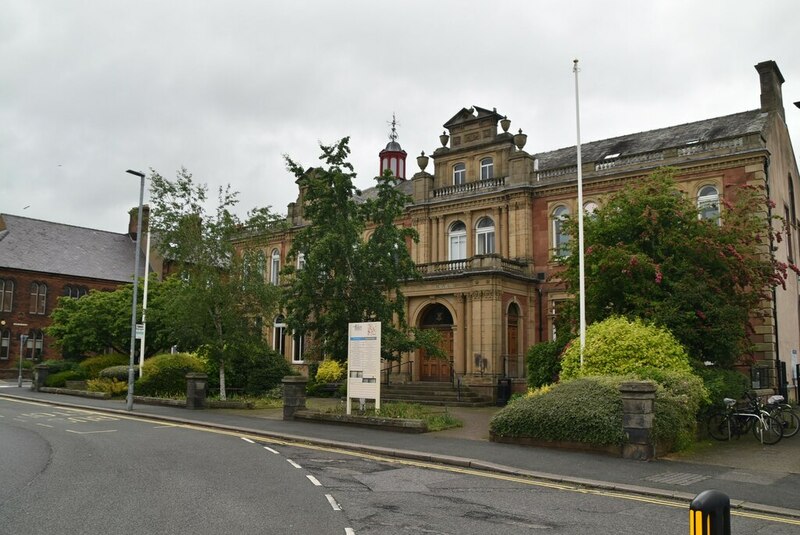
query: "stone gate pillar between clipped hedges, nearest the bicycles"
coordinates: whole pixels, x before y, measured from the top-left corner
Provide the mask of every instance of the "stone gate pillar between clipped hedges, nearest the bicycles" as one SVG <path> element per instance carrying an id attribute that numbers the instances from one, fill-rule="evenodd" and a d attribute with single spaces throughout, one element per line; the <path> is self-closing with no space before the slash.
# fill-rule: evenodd
<path id="1" fill-rule="evenodd" d="M 622 427 L 627 443 L 622 448 L 625 459 L 647 461 L 655 457 L 653 436 L 656 386 L 647 381 L 629 381 L 619 387 L 622 396 Z"/>

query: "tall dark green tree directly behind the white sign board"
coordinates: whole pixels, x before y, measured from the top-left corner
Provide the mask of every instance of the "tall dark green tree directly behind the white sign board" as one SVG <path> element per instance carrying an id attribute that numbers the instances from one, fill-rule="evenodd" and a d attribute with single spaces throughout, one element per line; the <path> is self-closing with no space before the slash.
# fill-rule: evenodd
<path id="1" fill-rule="evenodd" d="M 408 250 L 416 231 L 397 224 L 409 197 L 387 172 L 377 178 L 375 197 L 360 202 L 348 142 L 321 145 L 322 167 L 306 170 L 286 157 L 309 221 L 297 233 L 284 269 L 287 324 L 313 338 L 317 358 L 345 360 L 348 323 L 361 321 L 382 323 L 383 358 L 399 358 L 415 347 L 441 354 L 435 333 L 410 328 L 405 317 L 401 286 L 419 277 Z M 374 231 L 365 241 L 367 229 Z M 298 270 L 293 260 L 301 253 L 305 265 Z"/>

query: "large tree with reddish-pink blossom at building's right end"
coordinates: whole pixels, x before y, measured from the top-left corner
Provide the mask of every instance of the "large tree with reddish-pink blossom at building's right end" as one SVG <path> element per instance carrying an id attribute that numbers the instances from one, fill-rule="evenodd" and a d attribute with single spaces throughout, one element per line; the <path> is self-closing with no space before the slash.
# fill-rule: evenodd
<path id="1" fill-rule="evenodd" d="M 785 280 L 787 266 L 769 254 L 780 234 L 769 224 L 763 188 L 742 186 L 722 200 L 719 224 L 698 217 L 674 175 L 655 171 L 584 218 L 587 323 L 643 318 L 670 330 L 696 362 L 730 367 L 750 348 L 750 318 Z M 577 236 L 577 219 L 566 228 Z M 561 259 L 561 277 L 575 293 L 577 241 Z"/>

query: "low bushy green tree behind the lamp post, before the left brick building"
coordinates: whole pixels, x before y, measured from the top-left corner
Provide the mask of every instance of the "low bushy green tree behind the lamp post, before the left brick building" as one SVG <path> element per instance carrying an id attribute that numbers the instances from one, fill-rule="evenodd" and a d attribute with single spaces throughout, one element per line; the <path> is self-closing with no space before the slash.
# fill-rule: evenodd
<path id="1" fill-rule="evenodd" d="M 141 284 L 139 292 L 143 293 Z M 149 299 L 157 299 L 160 292 L 161 285 L 151 277 Z M 126 355 L 131 343 L 132 296 L 133 285 L 127 284 L 110 292 L 92 290 L 80 299 L 60 297 L 50 315 L 47 335 L 54 339 L 54 345 L 67 358 L 107 349 Z M 141 306 L 141 295 L 139 303 Z M 147 324 L 145 356 L 150 356 L 163 349 L 165 341 L 158 335 L 160 325 L 156 318 L 148 317 Z"/>

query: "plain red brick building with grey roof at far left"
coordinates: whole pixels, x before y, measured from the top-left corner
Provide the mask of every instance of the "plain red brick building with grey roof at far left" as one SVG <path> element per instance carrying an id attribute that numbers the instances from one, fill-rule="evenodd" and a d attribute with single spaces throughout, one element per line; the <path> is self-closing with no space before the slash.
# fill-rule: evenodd
<path id="1" fill-rule="evenodd" d="M 133 280 L 133 214 L 125 234 L 0 214 L 0 374 L 13 375 L 20 354 L 60 358 L 44 333 L 59 297 L 80 298 Z M 28 338 L 20 347 L 22 335 Z"/>

